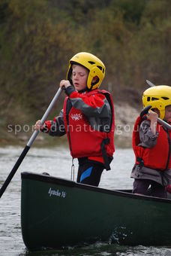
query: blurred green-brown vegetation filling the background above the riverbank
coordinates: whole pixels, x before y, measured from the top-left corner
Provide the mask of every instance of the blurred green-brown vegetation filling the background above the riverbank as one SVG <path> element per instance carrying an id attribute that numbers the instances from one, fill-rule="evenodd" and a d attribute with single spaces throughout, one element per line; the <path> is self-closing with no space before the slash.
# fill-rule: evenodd
<path id="1" fill-rule="evenodd" d="M 170 14 L 169 0 L 1 0 L 0 131 L 42 117 L 80 51 L 103 60 L 115 100 L 171 84 Z"/>

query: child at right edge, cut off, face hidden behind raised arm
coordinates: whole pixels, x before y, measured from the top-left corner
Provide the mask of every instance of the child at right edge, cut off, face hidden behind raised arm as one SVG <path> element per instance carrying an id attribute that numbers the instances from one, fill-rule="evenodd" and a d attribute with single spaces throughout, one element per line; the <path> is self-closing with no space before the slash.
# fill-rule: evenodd
<path id="1" fill-rule="evenodd" d="M 157 117 L 171 121 L 171 87 L 148 88 L 142 102 L 144 107 L 151 105 L 152 110 L 138 117 L 133 129 L 133 193 L 166 198 L 165 187 L 171 183 L 171 131 L 157 123 Z"/>

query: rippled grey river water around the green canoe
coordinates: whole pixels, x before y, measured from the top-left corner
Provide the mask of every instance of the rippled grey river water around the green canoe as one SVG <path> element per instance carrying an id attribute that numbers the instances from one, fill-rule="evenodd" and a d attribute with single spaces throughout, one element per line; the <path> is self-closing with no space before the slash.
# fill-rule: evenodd
<path id="1" fill-rule="evenodd" d="M 4 183 L 13 165 L 16 163 L 23 148 L 8 146 L 0 148 L 0 186 Z M 130 171 L 133 166 L 134 155 L 132 149 L 117 149 L 111 163 L 112 171 L 104 171 L 100 187 L 110 189 L 131 189 L 133 180 Z M 77 177 L 77 160 L 75 163 L 75 180 Z M 71 156 L 68 148 L 32 148 L 28 151 L 23 163 L 10 181 L 5 193 L 0 199 L 0 255 L 164 255 L 171 256 L 171 247 L 136 247 L 109 245 L 97 242 L 83 248 L 68 248 L 68 250 L 28 251 L 23 243 L 20 227 L 20 190 L 21 172 L 48 172 L 59 178 L 71 178 Z M 168 213 L 169 214 L 169 213 Z M 171 232 L 171 230 L 170 230 Z"/>

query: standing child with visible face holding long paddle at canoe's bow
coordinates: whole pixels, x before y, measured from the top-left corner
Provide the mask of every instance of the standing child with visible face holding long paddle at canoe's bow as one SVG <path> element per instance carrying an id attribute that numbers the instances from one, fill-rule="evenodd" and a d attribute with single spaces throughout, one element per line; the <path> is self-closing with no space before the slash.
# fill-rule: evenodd
<path id="1" fill-rule="evenodd" d="M 77 182 L 98 186 L 104 169 L 110 169 L 114 148 L 114 106 L 110 93 L 99 90 L 105 66 L 91 53 L 77 53 L 69 62 L 64 107 L 53 120 L 47 120 L 35 130 L 50 136 L 67 133 L 73 158 L 78 158 Z"/>

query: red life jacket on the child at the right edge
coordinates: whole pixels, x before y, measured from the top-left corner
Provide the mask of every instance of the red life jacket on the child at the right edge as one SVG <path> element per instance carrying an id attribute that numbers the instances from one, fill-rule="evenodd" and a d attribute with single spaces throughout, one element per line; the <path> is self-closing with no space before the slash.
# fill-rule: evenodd
<path id="1" fill-rule="evenodd" d="M 171 168 L 171 131 L 164 130 L 160 123 L 157 123 L 157 143 L 152 148 L 139 146 L 139 126 L 144 118 L 138 117 L 133 128 L 133 151 L 136 156 L 136 164 L 139 159 L 143 160 L 144 166 L 162 171 Z"/>

